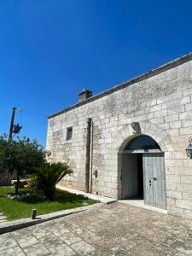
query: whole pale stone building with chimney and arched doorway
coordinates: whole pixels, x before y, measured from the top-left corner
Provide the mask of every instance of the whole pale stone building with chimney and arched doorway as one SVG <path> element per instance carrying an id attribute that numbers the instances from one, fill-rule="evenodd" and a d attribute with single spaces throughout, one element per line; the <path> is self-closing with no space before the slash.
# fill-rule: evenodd
<path id="1" fill-rule="evenodd" d="M 62 186 L 192 218 L 192 53 L 49 116 L 47 149 L 73 175 Z"/>

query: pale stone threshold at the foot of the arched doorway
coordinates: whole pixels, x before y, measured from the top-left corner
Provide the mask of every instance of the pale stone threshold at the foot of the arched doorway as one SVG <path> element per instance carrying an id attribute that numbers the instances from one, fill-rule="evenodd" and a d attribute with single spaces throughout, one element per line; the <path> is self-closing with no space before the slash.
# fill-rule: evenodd
<path id="1" fill-rule="evenodd" d="M 119 200 L 119 202 L 131 205 L 133 207 L 140 207 L 140 208 L 143 208 L 143 209 L 146 209 L 146 210 L 149 210 L 149 211 L 154 211 L 154 212 L 160 212 L 160 213 L 167 214 L 167 210 L 165 210 L 165 209 L 160 209 L 160 208 L 157 208 L 157 207 L 151 207 L 151 206 L 145 205 L 144 200 L 125 199 L 125 200 Z"/>

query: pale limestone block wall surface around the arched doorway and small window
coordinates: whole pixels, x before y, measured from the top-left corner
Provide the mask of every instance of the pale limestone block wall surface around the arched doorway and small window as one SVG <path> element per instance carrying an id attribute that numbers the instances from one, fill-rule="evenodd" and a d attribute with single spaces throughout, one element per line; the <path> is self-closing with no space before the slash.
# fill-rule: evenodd
<path id="1" fill-rule="evenodd" d="M 86 119 L 93 120 L 93 193 L 119 198 L 119 152 L 133 136 L 131 122 L 165 152 L 168 212 L 192 218 L 192 160 L 185 148 L 192 136 L 192 61 L 173 61 L 139 79 L 120 84 L 73 108 L 49 117 L 47 149 L 67 162 L 73 175 L 61 185 L 84 190 Z M 73 126 L 72 140 L 66 140 Z"/>

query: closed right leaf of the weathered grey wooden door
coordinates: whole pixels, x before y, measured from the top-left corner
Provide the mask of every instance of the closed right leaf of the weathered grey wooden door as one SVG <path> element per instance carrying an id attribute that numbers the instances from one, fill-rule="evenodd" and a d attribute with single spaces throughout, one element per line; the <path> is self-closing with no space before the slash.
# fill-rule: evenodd
<path id="1" fill-rule="evenodd" d="M 143 154 L 144 201 L 166 209 L 166 176 L 163 153 Z"/>

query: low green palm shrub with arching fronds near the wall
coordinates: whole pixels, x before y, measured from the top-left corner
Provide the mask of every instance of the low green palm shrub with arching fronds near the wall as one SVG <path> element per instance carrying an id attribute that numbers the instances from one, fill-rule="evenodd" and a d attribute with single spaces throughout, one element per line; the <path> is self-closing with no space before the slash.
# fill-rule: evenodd
<path id="1" fill-rule="evenodd" d="M 55 185 L 61 178 L 73 171 L 67 164 L 58 163 L 44 163 L 35 168 L 35 176 L 39 187 L 44 191 L 47 199 L 53 200 L 55 197 Z"/>

